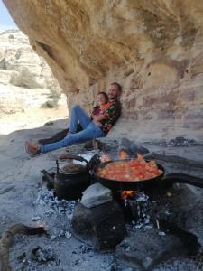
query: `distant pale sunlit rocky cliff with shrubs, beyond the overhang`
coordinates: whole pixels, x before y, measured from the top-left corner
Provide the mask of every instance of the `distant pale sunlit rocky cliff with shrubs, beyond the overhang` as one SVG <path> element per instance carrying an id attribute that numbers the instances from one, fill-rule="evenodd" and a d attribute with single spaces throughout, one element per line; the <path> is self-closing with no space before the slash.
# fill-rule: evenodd
<path id="1" fill-rule="evenodd" d="M 0 33 L 0 82 L 27 89 L 59 89 L 47 63 L 19 30 Z"/>

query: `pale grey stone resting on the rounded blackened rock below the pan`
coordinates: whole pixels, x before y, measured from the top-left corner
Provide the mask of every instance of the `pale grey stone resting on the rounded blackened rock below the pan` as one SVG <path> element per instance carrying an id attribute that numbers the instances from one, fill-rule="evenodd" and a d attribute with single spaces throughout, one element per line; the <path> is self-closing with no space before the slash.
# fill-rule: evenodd
<path id="1" fill-rule="evenodd" d="M 98 206 L 102 203 L 112 201 L 112 192 L 100 183 L 94 183 L 82 192 L 80 203 L 87 208 Z"/>

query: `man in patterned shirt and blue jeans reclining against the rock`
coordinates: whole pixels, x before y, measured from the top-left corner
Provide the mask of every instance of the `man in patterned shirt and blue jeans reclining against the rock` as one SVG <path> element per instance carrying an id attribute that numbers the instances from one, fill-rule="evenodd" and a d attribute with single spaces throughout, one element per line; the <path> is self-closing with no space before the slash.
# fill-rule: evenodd
<path id="1" fill-rule="evenodd" d="M 104 137 L 115 125 L 115 122 L 121 114 L 121 104 L 119 97 L 121 95 L 121 86 L 114 82 L 108 89 L 109 107 L 102 114 L 93 116 L 92 120 L 87 113 L 79 106 L 74 106 L 71 111 L 69 135 L 62 140 L 51 144 L 31 144 L 25 143 L 25 150 L 31 156 L 40 153 L 50 152 L 64 146 L 74 143 L 81 143 L 97 137 Z M 77 133 L 78 123 L 83 130 Z"/>

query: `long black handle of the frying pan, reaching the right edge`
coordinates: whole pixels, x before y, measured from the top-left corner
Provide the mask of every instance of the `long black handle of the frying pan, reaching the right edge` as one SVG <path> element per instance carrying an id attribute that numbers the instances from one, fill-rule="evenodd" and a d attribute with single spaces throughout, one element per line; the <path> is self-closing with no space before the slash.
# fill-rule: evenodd
<path id="1" fill-rule="evenodd" d="M 185 173 L 168 173 L 163 176 L 161 182 L 181 182 L 188 183 L 200 188 L 203 188 L 203 178 L 198 178 Z"/>

